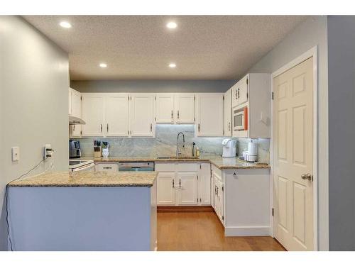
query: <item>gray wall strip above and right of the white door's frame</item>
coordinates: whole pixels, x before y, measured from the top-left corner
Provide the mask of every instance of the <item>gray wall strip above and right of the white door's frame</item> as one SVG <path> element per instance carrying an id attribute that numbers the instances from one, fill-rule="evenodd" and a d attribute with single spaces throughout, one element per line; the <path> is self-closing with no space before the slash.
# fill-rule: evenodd
<path id="1" fill-rule="evenodd" d="M 354 43 L 353 43 L 354 44 Z M 272 73 L 317 45 L 318 59 L 318 203 L 319 248 L 328 249 L 328 70 L 327 16 L 315 16 L 297 26 L 249 72 Z"/>

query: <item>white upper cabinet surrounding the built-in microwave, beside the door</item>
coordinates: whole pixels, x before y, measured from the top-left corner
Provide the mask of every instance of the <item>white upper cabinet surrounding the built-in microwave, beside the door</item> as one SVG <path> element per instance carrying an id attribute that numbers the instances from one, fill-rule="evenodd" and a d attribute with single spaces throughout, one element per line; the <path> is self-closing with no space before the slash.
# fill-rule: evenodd
<path id="1" fill-rule="evenodd" d="M 245 138 L 271 138 L 271 75 L 249 73 L 231 89 L 232 116 L 233 113 L 247 110 L 246 118 L 244 117 L 247 121 L 247 130 L 233 129 L 232 135 Z"/>

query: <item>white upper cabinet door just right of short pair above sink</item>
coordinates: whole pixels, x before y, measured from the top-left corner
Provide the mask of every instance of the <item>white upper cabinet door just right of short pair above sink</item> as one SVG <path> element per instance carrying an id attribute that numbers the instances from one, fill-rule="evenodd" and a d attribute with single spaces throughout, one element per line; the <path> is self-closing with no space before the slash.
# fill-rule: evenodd
<path id="1" fill-rule="evenodd" d="M 197 94 L 195 129 L 197 136 L 223 135 L 223 96 L 221 93 Z"/>

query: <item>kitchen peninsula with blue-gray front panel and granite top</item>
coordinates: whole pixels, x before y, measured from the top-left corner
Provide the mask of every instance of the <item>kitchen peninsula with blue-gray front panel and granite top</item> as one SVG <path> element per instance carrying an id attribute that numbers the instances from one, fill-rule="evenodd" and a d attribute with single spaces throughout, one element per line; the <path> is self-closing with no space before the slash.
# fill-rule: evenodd
<path id="1" fill-rule="evenodd" d="M 155 250 L 157 172 L 45 172 L 9 184 L 13 250 Z"/>

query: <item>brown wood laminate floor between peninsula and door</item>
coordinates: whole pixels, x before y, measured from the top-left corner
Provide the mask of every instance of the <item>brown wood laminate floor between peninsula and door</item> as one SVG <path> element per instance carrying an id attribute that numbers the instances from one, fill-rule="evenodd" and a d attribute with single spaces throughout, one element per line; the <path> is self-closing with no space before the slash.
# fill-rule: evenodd
<path id="1" fill-rule="evenodd" d="M 158 250 L 285 250 L 270 236 L 224 237 L 214 212 L 158 212 Z"/>

